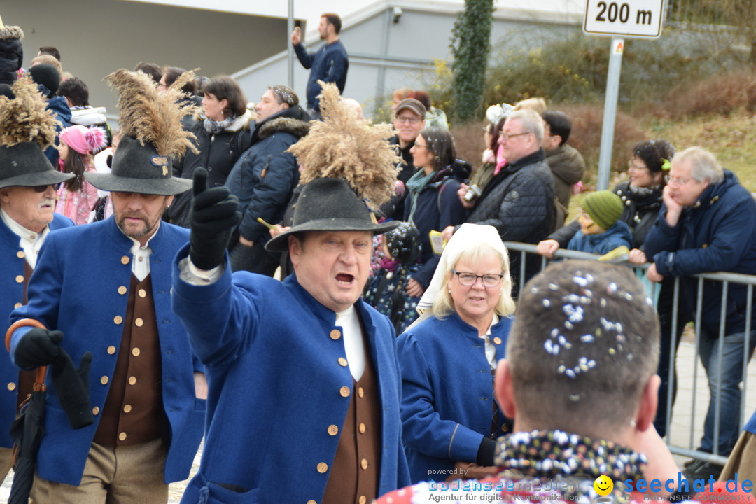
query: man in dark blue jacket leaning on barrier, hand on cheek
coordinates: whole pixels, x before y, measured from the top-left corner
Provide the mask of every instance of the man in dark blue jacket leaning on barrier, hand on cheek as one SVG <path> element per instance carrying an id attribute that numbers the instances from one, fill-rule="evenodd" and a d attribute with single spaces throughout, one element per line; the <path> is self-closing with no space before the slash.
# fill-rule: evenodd
<path id="1" fill-rule="evenodd" d="M 680 277 L 680 311 L 686 320 L 695 320 L 698 280 L 690 275 L 756 271 L 756 202 L 733 172 L 722 169 L 714 155 L 700 147 L 674 156 L 663 198 L 658 221 L 644 245 L 653 263 L 648 277 L 654 282 Z M 748 300 L 745 285 L 729 283 L 727 311 L 721 314 L 722 294 L 720 283 L 704 283 L 699 353 L 711 400 L 699 450 L 727 456 L 737 441 L 742 416 L 739 384 L 743 379 Z M 756 320 L 751 320 L 748 357 L 756 345 L 754 323 Z M 719 432 L 714 444 L 717 402 Z M 697 461 L 688 466 L 686 475 L 699 478 L 712 474 L 717 478 L 720 470 L 719 465 Z"/>

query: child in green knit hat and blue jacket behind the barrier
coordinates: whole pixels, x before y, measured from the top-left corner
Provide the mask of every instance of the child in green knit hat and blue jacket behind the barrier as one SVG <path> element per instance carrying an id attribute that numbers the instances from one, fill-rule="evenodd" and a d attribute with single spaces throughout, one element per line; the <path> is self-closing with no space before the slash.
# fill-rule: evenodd
<path id="1" fill-rule="evenodd" d="M 567 248 L 599 255 L 621 246 L 629 249 L 633 235 L 630 227 L 619 220 L 623 208 L 622 200 L 610 190 L 600 190 L 585 196 L 578 217 L 580 230 L 569 240 Z"/>

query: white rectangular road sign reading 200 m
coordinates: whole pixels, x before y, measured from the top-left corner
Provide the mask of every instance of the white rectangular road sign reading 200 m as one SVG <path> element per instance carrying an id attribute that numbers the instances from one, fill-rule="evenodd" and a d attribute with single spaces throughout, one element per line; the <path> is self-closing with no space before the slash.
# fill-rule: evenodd
<path id="1" fill-rule="evenodd" d="M 642 37 L 662 35 L 664 0 L 587 0 L 583 31 L 588 35 Z"/>

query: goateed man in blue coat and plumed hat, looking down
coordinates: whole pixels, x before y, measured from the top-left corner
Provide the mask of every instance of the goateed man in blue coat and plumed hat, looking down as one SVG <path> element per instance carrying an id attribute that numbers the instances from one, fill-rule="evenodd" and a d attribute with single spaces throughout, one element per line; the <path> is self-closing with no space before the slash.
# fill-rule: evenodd
<path id="1" fill-rule="evenodd" d="M 19 326 L 11 337 L 14 362 L 52 369 L 32 490 L 40 503 L 167 502 L 168 483 L 187 478 L 203 434 L 204 376 L 169 294 L 171 261 L 188 232 L 161 221 L 173 196 L 191 186 L 171 175 L 170 159 L 181 153 L 171 139 L 184 134 L 178 113 L 166 113 L 176 96 L 159 97 L 141 73 L 119 70 L 109 78 L 137 95 L 122 96 L 124 136 L 113 171 L 85 174 L 110 191 L 113 217 L 51 233 L 29 304 L 11 314 Z M 140 109 L 129 110 L 134 104 Z M 153 114 L 141 116 L 146 110 Z M 143 128 L 124 117 L 138 117 Z M 157 133 L 155 144 L 144 131 Z M 28 319 L 49 330 L 25 326 Z M 55 381 L 61 350 L 74 362 L 92 356 L 94 423 L 76 430 L 61 409 L 69 392 Z"/>

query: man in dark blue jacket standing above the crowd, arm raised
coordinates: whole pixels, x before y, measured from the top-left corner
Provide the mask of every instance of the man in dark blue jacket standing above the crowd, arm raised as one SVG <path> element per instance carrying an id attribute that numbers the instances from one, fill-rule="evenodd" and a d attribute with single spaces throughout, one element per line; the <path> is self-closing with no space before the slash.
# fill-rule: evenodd
<path id="1" fill-rule="evenodd" d="M 302 29 L 299 26 L 291 33 L 291 43 L 299 63 L 311 69 L 307 80 L 307 108 L 316 119 L 321 113 L 321 104 L 318 99 L 318 94 L 321 94 L 321 85 L 318 81 L 333 82 L 339 88 L 339 93 L 344 92 L 346 85 L 349 57 L 339 40 L 340 31 L 341 18 L 336 14 L 323 14 L 321 23 L 318 25 L 318 34 L 326 43 L 314 53 L 308 52 L 302 45 Z"/>

